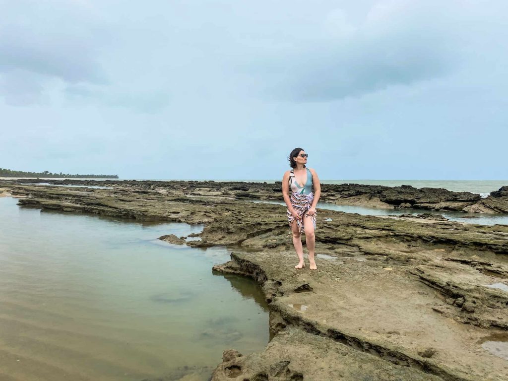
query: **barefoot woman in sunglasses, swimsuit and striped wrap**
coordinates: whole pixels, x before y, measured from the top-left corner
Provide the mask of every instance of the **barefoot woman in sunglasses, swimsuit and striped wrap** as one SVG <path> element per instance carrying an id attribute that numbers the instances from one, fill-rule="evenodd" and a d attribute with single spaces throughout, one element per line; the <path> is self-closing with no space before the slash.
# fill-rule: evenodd
<path id="1" fill-rule="evenodd" d="M 288 222 L 293 233 L 293 245 L 300 260 L 295 268 L 305 267 L 302 241 L 300 240 L 301 234 L 304 233 L 309 250 L 309 268 L 317 270 L 314 261 L 314 230 L 317 218 L 316 204 L 321 196 L 321 185 L 316 171 L 305 166 L 307 156 L 302 148 L 295 148 L 291 151 L 288 160 L 293 169 L 284 173 L 282 194 L 286 205 L 288 205 Z"/>

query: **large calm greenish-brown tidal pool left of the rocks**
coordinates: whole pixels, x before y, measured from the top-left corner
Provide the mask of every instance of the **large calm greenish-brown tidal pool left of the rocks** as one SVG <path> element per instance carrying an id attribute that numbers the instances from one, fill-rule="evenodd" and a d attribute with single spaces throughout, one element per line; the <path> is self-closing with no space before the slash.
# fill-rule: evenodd
<path id="1" fill-rule="evenodd" d="M 214 275 L 225 248 L 156 238 L 200 226 L 20 208 L 0 198 L 0 379 L 206 380 L 269 340 L 259 286 Z M 189 367 L 184 370 L 184 367 Z M 178 377 L 176 376 L 178 375 Z"/>

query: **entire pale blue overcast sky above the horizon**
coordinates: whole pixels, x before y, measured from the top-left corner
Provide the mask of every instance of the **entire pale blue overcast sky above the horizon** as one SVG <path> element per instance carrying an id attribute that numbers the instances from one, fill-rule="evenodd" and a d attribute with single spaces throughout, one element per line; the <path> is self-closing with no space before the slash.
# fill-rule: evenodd
<path id="1" fill-rule="evenodd" d="M 0 0 L 0 167 L 508 179 L 505 0 Z"/>

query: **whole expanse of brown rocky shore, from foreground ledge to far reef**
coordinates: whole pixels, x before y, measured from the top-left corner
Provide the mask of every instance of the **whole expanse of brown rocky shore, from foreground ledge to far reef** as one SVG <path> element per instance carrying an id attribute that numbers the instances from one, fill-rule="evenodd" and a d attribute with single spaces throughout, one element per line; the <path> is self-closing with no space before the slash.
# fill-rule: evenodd
<path id="1" fill-rule="evenodd" d="M 280 184 L 79 184 L 110 188 L 16 180 L 0 181 L 0 193 L 20 197 L 27 207 L 205 224 L 199 240 L 161 238 L 197 247 L 226 245 L 231 261 L 214 271 L 262 285 L 275 336 L 262 353 L 225 353 L 214 381 L 508 379 L 508 226 L 322 209 L 319 268 L 296 270 L 284 206 L 249 202 L 279 200 Z M 325 184 L 322 190 L 324 201 L 332 203 L 369 198 L 387 207 L 508 211 L 507 187 L 487 199 L 444 189 L 385 188 Z"/>

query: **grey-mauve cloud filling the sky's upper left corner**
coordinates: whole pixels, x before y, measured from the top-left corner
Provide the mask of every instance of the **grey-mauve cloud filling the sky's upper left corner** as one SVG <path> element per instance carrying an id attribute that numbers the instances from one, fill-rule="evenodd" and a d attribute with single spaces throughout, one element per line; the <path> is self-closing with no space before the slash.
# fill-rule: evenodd
<path id="1" fill-rule="evenodd" d="M 99 56 L 108 38 L 101 20 L 87 3 L 3 3 L 0 94 L 8 104 L 39 104 L 55 80 L 73 84 L 107 82 Z"/>

